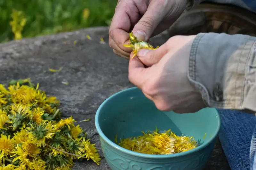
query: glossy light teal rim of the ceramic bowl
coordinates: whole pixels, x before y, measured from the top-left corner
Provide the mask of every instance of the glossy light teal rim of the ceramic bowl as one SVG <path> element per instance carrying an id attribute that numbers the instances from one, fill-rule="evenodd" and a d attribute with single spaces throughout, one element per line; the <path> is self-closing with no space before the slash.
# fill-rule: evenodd
<path id="1" fill-rule="evenodd" d="M 197 152 L 197 151 L 200 151 L 202 149 L 204 149 L 206 146 L 210 145 L 212 143 L 213 140 L 216 139 L 216 137 L 218 136 L 219 134 L 219 131 L 220 131 L 220 125 L 221 125 L 221 121 L 220 121 L 220 115 L 219 115 L 219 112 L 217 111 L 216 108 L 211 108 L 211 109 L 214 109 L 215 110 L 215 114 L 216 114 L 216 117 L 218 119 L 218 127 L 214 133 L 214 135 L 212 135 L 212 138 L 203 143 L 202 145 L 192 149 L 192 150 L 189 150 L 189 151 L 186 151 L 186 152 L 180 152 L 180 153 L 175 153 L 175 154 L 169 154 L 169 155 L 153 155 L 153 154 L 146 154 L 146 153 L 139 153 L 139 152 L 135 152 L 135 151 L 130 151 L 128 149 L 125 149 L 119 145 L 117 145 L 116 143 L 112 142 L 110 139 L 108 139 L 108 137 L 103 133 L 103 131 L 101 130 L 100 128 L 100 125 L 99 125 L 99 114 L 100 114 L 100 110 L 102 109 L 102 107 L 109 101 L 111 100 L 113 97 L 115 96 L 118 96 L 120 95 L 121 93 L 124 93 L 124 92 L 127 92 L 127 91 L 132 91 L 132 90 L 138 90 L 139 88 L 137 87 L 132 87 L 132 88 L 128 88 L 128 89 L 124 89 L 124 90 L 121 90 L 115 94 L 113 94 L 112 96 L 108 97 L 103 103 L 100 104 L 100 107 L 98 108 L 98 110 L 96 111 L 96 115 L 95 115 L 95 126 L 96 126 L 96 130 L 98 131 L 100 137 L 106 142 L 108 143 L 108 145 L 116 148 L 119 152 L 124 152 L 128 155 L 132 155 L 132 156 L 137 156 L 137 157 L 141 157 L 141 158 L 149 158 L 149 159 L 164 159 L 164 158 L 176 158 L 176 157 L 180 157 L 180 156 L 185 156 L 185 155 L 189 155 L 193 152 Z"/>

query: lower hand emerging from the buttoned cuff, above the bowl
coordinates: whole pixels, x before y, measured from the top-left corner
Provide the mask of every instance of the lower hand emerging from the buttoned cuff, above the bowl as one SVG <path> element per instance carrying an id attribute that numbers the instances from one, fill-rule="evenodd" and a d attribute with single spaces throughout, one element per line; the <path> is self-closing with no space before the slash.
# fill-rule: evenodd
<path id="1" fill-rule="evenodd" d="M 188 61 L 195 37 L 174 36 L 156 50 L 142 49 L 138 57 L 130 59 L 129 80 L 159 110 L 192 113 L 205 107 L 201 94 L 188 80 Z"/>

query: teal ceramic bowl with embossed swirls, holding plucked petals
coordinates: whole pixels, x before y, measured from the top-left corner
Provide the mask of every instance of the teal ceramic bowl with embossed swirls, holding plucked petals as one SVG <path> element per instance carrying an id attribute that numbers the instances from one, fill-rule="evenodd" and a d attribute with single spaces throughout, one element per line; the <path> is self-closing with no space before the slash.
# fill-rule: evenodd
<path id="1" fill-rule="evenodd" d="M 201 170 L 214 148 L 220 116 L 213 108 L 186 114 L 159 111 L 140 89 L 130 88 L 100 105 L 95 125 L 103 154 L 112 170 Z M 118 139 L 136 137 L 142 135 L 141 131 L 154 131 L 156 127 L 172 129 L 177 135 L 193 136 L 199 146 L 182 153 L 151 155 L 133 152 L 115 143 L 116 135 Z"/>

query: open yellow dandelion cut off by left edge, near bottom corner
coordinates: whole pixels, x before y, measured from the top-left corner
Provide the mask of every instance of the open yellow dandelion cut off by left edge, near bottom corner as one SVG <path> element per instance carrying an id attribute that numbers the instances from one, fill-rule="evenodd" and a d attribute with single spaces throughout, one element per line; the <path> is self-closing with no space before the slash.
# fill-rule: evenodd
<path id="1" fill-rule="evenodd" d="M 0 162 L 5 159 L 12 153 L 14 150 L 15 141 L 13 138 L 10 138 L 10 135 L 7 137 L 1 134 L 0 138 Z"/>

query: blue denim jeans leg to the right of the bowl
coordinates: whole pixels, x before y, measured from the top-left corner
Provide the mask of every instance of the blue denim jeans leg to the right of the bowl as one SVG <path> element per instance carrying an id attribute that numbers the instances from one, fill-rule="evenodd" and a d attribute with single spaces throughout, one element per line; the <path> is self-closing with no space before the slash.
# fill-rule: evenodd
<path id="1" fill-rule="evenodd" d="M 220 143 L 231 170 L 256 170 L 256 117 L 236 110 L 218 109 Z"/>

